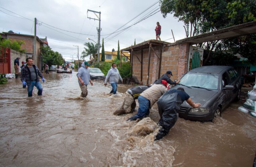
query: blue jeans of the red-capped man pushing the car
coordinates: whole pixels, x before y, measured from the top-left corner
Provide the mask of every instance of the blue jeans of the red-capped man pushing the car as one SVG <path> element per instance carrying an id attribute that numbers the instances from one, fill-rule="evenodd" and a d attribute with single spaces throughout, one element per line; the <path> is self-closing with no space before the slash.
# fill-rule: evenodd
<path id="1" fill-rule="evenodd" d="M 135 116 L 138 118 L 148 117 L 149 105 L 150 105 L 149 100 L 144 98 L 143 96 L 139 96 L 138 101 L 139 101 L 139 110 Z"/>

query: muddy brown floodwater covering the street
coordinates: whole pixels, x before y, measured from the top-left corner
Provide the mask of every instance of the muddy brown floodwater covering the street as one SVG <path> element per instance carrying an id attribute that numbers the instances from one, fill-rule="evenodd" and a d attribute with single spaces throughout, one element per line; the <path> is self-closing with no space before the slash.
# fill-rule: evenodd
<path id="1" fill-rule="evenodd" d="M 112 114 L 131 86 L 118 85 L 122 96 L 112 97 L 109 83 L 93 81 L 82 99 L 76 72 L 44 76 L 39 97 L 34 89 L 28 98 L 20 79 L 0 85 L 0 166 L 252 166 L 256 118 L 237 110 L 239 103 L 214 123 L 178 118 L 154 142 L 156 105 L 141 122 Z"/>

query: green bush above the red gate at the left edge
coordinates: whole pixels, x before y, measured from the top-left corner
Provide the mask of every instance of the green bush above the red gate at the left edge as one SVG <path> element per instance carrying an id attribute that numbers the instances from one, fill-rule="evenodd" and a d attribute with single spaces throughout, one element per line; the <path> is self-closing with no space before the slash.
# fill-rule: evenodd
<path id="1" fill-rule="evenodd" d="M 1 38 L 0 38 L 1 39 Z M 24 41 L 20 40 L 20 41 L 11 41 L 10 39 L 1 39 L 0 40 L 0 45 L 3 47 L 8 47 L 11 48 L 13 50 L 19 51 L 21 53 L 24 53 L 26 50 L 25 49 L 21 49 L 21 45 L 25 44 Z"/>

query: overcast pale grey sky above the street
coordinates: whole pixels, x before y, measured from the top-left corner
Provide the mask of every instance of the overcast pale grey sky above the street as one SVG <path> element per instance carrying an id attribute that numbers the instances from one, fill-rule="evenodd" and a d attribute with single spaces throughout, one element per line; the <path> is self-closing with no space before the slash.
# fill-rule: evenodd
<path id="1" fill-rule="evenodd" d="M 33 21 L 36 17 L 38 21 L 36 35 L 40 38 L 47 36 L 49 46 L 61 53 L 66 60 L 71 60 L 72 56 L 74 59 L 77 56 L 77 47 L 73 45 L 79 46 L 79 55 L 81 55 L 84 43 L 93 42 L 86 39 L 87 37 L 95 42 L 98 39 L 96 28 L 99 27 L 99 21 L 87 18 L 87 9 L 101 12 L 100 43 L 102 44 L 104 38 L 105 51 L 111 51 L 112 48 L 117 50 L 118 40 L 120 49 L 123 49 L 133 45 L 135 39 L 136 44 L 155 39 L 157 21 L 162 26 L 161 40 L 174 42 L 170 39 L 171 29 L 175 40 L 185 38 L 183 22 L 178 22 L 178 19 L 171 14 L 163 18 L 161 12 L 157 12 L 159 11 L 157 0 L 0 0 L 0 30 L 34 35 Z M 143 11 L 145 12 L 142 13 Z M 154 11 L 157 13 L 154 14 Z M 154 15 L 133 25 L 145 16 L 151 15 L 150 13 Z M 88 17 L 96 18 L 92 12 L 88 12 Z M 133 26 L 127 28 L 131 25 Z M 127 29 L 120 31 L 124 28 Z M 121 33 L 114 33 L 116 30 Z M 111 33 L 114 34 L 107 35 Z M 116 34 L 118 35 L 114 36 Z"/>

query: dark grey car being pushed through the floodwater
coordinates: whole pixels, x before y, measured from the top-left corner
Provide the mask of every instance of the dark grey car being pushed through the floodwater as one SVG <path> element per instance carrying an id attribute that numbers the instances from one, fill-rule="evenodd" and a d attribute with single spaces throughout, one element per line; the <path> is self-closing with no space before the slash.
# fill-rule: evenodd
<path id="1" fill-rule="evenodd" d="M 193 121 L 213 121 L 233 100 L 241 97 L 241 79 L 231 66 L 202 66 L 188 71 L 180 82 L 170 88 L 184 88 L 194 103 L 192 108 L 186 101 L 181 105 L 179 117 Z"/>

